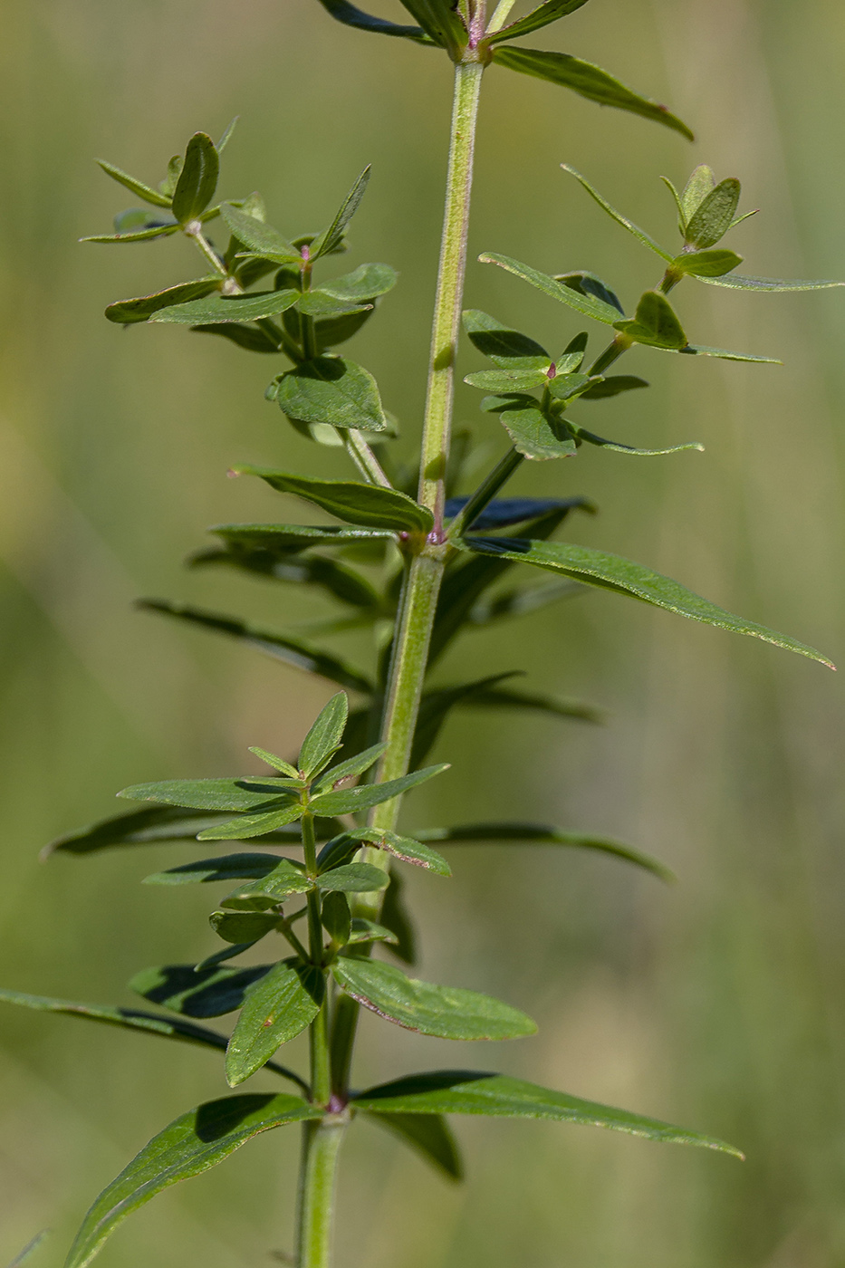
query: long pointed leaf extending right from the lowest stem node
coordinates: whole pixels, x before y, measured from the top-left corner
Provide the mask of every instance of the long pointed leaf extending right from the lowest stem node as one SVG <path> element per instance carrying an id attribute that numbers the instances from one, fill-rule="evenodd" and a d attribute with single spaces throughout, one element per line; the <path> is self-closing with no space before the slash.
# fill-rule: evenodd
<path id="1" fill-rule="evenodd" d="M 626 1110 L 580 1101 L 565 1092 L 552 1092 L 523 1079 L 480 1070 L 434 1070 L 412 1074 L 359 1093 L 355 1107 L 379 1113 L 478 1113 L 500 1118 L 551 1118 L 610 1127 L 632 1136 L 646 1136 L 674 1145 L 700 1145 L 742 1158 L 724 1141 L 697 1131 L 672 1127 L 656 1118 L 642 1118 Z"/>

